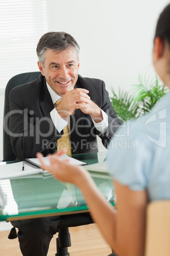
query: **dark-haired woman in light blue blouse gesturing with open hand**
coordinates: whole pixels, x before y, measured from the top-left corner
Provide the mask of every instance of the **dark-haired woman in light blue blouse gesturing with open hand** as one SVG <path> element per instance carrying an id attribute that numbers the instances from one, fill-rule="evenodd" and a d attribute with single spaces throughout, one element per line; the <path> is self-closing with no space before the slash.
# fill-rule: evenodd
<path id="1" fill-rule="evenodd" d="M 152 59 L 155 71 L 170 88 L 170 4 L 162 11 L 155 31 Z M 117 209 L 105 201 L 83 167 L 49 155 L 42 169 L 82 191 L 93 220 L 117 255 L 141 256 L 145 250 L 145 218 L 149 201 L 170 199 L 170 94 L 148 114 L 116 132 L 108 148 L 108 169 L 113 176 Z M 125 143 L 130 147 L 125 148 Z M 122 146 L 123 145 L 123 146 Z"/>

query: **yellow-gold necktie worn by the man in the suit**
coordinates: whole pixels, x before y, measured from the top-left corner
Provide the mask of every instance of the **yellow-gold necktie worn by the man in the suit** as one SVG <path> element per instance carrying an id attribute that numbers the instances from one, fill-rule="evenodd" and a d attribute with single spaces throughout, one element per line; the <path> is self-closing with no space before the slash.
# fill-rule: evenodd
<path id="1" fill-rule="evenodd" d="M 56 101 L 56 106 L 60 103 L 60 101 Z M 72 155 L 72 150 L 70 146 L 70 134 L 68 125 L 63 128 L 63 135 L 60 139 L 57 140 L 57 151 L 67 149 L 67 155 Z"/>

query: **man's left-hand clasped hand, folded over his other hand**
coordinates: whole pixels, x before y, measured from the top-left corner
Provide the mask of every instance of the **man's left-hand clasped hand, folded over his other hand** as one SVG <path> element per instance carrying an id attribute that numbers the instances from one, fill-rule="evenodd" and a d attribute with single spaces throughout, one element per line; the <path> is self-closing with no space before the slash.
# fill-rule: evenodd
<path id="1" fill-rule="evenodd" d="M 56 106 L 56 111 L 58 111 L 60 117 L 67 118 L 70 115 L 74 115 L 74 111 L 77 109 L 89 108 L 90 97 L 88 93 L 88 90 L 81 88 L 66 92 L 58 106 Z"/>

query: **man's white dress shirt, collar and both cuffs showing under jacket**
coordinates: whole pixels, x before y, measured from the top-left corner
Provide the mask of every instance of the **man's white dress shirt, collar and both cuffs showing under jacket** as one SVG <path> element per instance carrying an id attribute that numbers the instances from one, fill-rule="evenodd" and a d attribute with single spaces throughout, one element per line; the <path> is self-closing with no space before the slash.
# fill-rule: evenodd
<path id="1" fill-rule="evenodd" d="M 47 88 L 49 91 L 49 94 L 51 96 L 51 99 L 53 101 L 54 107 L 55 107 L 55 103 L 56 101 L 62 99 L 62 97 L 60 97 L 58 94 L 56 94 L 56 92 L 51 89 L 51 87 L 47 84 Z M 107 131 L 108 128 L 108 116 L 107 113 L 105 113 L 105 111 L 101 110 L 101 113 L 103 115 L 103 120 L 99 123 L 96 123 L 93 119 L 93 124 L 95 125 L 96 129 L 101 132 L 101 133 L 105 133 Z M 62 118 L 60 117 L 60 115 L 58 114 L 58 111 L 56 111 L 56 108 L 54 108 L 51 112 L 50 112 L 50 116 L 51 119 L 53 121 L 53 124 L 55 125 L 55 128 L 57 129 L 58 132 L 61 132 L 63 130 L 63 128 L 68 125 L 69 127 L 69 131 L 70 131 L 70 118 Z"/>

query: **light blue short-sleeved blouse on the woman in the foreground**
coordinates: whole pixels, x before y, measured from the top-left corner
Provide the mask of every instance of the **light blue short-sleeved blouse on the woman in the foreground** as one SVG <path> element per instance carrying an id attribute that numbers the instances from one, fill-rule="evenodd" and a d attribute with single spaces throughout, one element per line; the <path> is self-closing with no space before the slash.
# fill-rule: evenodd
<path id="1" fill-rule="evenodd" d="M 108 150 L 114 180 L 147 190 L 150 201 L 170 199 L 170 94 L 147 115 L 122 125 Z"/>

